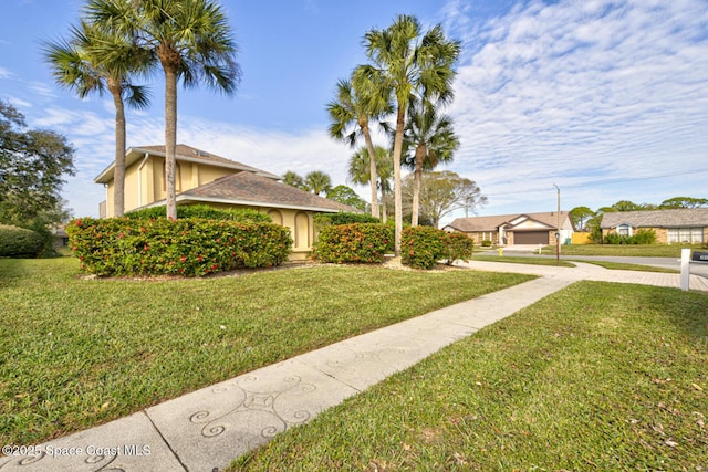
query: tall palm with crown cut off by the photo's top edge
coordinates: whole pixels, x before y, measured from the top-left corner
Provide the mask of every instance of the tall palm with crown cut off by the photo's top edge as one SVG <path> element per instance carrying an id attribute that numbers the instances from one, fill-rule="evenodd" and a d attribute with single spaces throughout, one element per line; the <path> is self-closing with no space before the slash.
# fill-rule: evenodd
<path id="1" fill-rule="evenodd" d="M 165 179 L 167 217 L 177 217 L 175 148 L 177 82 L 206 82 L 225 94 L 239 83 L 236 44 L 215 0 L 88 0 L 88 18 L 134 36 L 153 52 L 165 74 Z M 153 63 L 155 64 L 155 63 Z"/>

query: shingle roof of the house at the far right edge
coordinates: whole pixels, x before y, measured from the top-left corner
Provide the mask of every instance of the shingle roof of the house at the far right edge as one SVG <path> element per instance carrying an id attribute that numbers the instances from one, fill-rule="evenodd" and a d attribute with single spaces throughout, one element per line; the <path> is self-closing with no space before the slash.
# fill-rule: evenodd
<path id="1" fill-rule="evenodd" d="M 708 208 L 614 211 L 603 214 L 600 227 L 616 228 L 625 223 L 634 228 L 708 227 Z"/>

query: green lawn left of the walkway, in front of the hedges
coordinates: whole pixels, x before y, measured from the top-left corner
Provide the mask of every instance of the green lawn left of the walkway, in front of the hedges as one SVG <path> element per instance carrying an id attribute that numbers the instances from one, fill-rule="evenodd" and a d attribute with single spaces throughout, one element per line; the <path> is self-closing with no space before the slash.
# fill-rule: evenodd
<path id="1" fill-rule="evenodd" d="M 0 260 L 0 443 L 31 444 L 532 277 L 317 266 L 81 280 Z"/>

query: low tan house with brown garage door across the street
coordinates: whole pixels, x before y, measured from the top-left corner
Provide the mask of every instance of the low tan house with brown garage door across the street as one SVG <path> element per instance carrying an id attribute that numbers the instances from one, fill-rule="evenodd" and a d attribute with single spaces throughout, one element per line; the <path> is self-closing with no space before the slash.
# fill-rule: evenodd
<path id="1" fill-rule="evenodd" d="M 491 241 L 498 245 L 555 244 L 559 213 L 500 214 L 494 217 L 458 218 L 444 228 L 448 232 L 462 232 L 476 244 Z M 561 243 L 571 238 L 573 223 L 566 211 L 560 213 Z"/>

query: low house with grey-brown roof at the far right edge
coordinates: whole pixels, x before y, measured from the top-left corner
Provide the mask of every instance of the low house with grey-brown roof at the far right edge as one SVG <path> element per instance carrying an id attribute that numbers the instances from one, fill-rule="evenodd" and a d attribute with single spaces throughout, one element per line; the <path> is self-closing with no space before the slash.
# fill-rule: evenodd
<path id="1" fill-rule="evenodd" d="M 704 243 L 708 242 L 708 208 L 615 211 L 603 214 L 600 228 L 603 238 L 654 230 L 657 243 Z"/>

